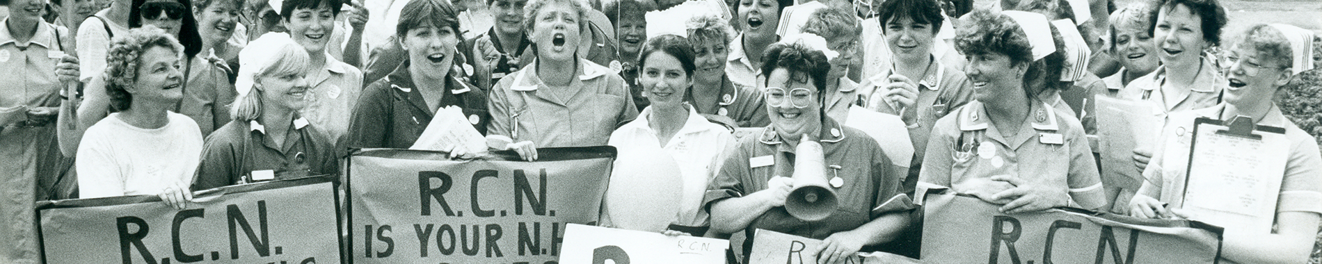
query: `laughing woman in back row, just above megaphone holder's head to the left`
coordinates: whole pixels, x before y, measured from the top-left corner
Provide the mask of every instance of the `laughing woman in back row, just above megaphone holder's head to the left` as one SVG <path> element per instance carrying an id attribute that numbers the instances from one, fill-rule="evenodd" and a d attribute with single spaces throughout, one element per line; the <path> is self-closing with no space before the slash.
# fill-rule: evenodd
<path id="1" fill-rule="evenodd" d="M 780 40 L 776 26 L 780 12 L 795 5 L 795 0 L 739 0 L 735 5 L 735 22 L 740 34 L 730 41 L 730 55 L 726 58 L 726 73 L 730 81 L 754 87 L 763 87 L 765 77 L 759 77 L 758 66 L 767 46 Z"/>

